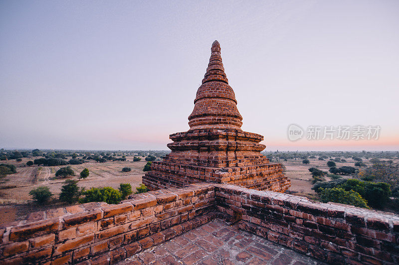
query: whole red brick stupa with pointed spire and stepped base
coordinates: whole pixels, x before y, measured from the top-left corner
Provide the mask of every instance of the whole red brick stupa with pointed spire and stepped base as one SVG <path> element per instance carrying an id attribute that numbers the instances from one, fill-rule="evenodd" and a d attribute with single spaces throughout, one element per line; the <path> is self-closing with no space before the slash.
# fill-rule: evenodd
<path id="1" fill-rule="evenodd" d="M 152 163 L 143 183 L 151 190 L 210 181 L 284 192 L 291 183 L 281 164 L 270 163 L 260 153 L 266 147 L 259 143 L 263 136 L 243 132 L 241 121 L 215 40 L 189 116 L 190 130 L 169 136 L 172 152 Z"/>

